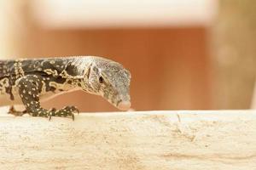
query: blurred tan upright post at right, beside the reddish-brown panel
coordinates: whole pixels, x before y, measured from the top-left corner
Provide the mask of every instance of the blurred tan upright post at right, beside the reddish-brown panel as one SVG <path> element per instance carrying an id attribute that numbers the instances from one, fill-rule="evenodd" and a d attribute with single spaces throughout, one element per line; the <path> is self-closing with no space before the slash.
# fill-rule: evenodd
<path id="1" fill-rule="evenodd" d="M 221 0 L 212 29 L 214 107 L 248 109 L 256 75 L 256 1 Z"/>

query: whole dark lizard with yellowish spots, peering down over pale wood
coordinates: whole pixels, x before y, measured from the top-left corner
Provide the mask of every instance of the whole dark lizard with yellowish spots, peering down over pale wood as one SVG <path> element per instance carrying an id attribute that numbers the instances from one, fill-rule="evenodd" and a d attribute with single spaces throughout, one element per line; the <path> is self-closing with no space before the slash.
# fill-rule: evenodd
<path id="1" fill-rule="evenodd" d="M 0 105 L 25 105 L 32 116 L 73 116 L 74 106 L 45 110 L 40 101 L 83 90 L 125 111 L 131 106 L 130 80 L 122 65 L 101 57 L 0 60 Z"/>

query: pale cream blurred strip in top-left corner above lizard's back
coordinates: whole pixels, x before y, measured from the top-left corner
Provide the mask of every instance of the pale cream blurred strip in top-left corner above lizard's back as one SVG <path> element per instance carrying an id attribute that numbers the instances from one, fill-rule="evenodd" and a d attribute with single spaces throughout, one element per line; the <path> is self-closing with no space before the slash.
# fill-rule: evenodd
<path id="1" fill-rule="evenodd" d="M 0 59 L 20 55 L 20 44 L 24 43 L 30 31 L 25 14 L 28 2 L 0 1 Z"/>

